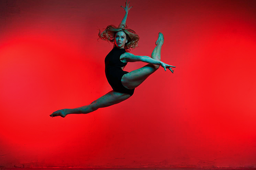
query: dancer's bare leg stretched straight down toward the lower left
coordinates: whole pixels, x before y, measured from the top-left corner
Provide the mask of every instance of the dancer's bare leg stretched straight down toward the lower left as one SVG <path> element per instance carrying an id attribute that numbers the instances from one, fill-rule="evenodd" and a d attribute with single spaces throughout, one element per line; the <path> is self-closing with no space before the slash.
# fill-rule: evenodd
<path id="1" fill-rule="evenodd" d="M 110 91 L 107 94 L 103 95 L 102 97 L 98 98 L 97 100 L 94 100 L 91 102 L 91 104 L 88 104 L 86 106 L 74 108 L 74 109 L 61 109 L 54 113 L 52 113 L 50 116 L 61 116 L 65 117 L 69 114 L 87 114 L 90 112 L 93 112 L 99 108 L 112 106 L 114 104 L 118 104 L 120 102 L 123 102 L 124 100 L 130 98 L 131 95 L 125 94 L 125 93 L 119 93 L 117 91 Z"/>

